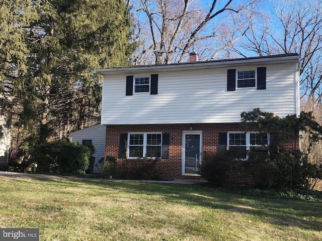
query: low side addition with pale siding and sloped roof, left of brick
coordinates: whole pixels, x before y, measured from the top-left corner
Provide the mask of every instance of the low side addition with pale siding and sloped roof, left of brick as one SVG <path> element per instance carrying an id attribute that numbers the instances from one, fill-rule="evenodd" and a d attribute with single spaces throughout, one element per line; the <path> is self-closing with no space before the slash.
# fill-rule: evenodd
<path id="1" fill-rule="evenodd" d="M 95 162 L 90 163 L 89 173 L 99 173 L 100 168 L 96 165 L 98 161 L 104 157 L 105 152 L 105 137 L 106 137 L 106 127 L 102 125 L 96 125 L 82 130 L 69 133 L 72 142 L 78 142 L 80 144 L 92 143 L 95 147 Z"/>

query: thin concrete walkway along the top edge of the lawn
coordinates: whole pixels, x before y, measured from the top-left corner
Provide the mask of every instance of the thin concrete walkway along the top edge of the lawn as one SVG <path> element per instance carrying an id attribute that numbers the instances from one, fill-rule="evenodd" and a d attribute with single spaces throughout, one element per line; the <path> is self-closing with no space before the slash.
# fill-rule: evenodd
<path id="1" fill-rule="evenodd" d="M 8 177 L 8 178 L 44 178 L 44 179 L 69 179 L 73 177 L 67 176 L 54 176 L 54 175 L 45 175 L 45 174 L 33 174 L 33 173 L 21 173 L 21 172 L 1 172 L 0 171 L 0 178 Z M 85 178 L 92 178 L 92 177 L 85 177 Z M 94 177 L 95 178 L 95 177 Z M 179 180 L 171 180 L 171 181 L 153 181 L 153 180 L 119 180 L 113 179 L 116 181 L 127 181 L 127 182 L 155 182 L 155 183 L 175 183 L 175 184 L 203 184 L 207 183 L 208 181 L 201 179 L 179 179 Z"/>

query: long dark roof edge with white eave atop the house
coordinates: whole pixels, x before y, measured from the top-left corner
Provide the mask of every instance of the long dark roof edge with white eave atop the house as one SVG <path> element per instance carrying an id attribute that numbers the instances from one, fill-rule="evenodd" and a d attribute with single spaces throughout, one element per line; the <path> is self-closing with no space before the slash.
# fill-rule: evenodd
<path id="1" fill-rule="evenodd" d="M 180 70 L 193 70 L 193 69 L 207 69 L 214 67 L 233 67 L 245 65 L 265 65 L 265 64 L 281 64 L 281 63 L 296 63 L 300 59 L 299 54 L 279 54 L 260 57 L 236 58 L 236 59 L 222 59 L 222 60 L 208 60 L 198 62 L 184 62 L 173 64 L 160 64 L 160 65 L 135 65 L 128 67 L 117 67 L 108 69 L 98 69 L 97 72 L 101 74 L 113 73 L 135 73 L 135 72 L 164 72 L 164 71 L 180 71 Z"/>

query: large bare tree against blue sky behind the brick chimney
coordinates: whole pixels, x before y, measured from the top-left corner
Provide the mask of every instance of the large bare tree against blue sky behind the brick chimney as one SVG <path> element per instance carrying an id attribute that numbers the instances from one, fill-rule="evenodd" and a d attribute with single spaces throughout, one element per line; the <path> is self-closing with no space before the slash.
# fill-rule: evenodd
<path id="1" fill-rule="evenodd" d="M 134 64 L 183 62 L 191 51 L 201 59 L 227 54 L 225 50 L 249 29 L 247 20 L 252 18 L 256 0 L 245 2 L 132 1 L 133 42 L 139 45 Z"/>

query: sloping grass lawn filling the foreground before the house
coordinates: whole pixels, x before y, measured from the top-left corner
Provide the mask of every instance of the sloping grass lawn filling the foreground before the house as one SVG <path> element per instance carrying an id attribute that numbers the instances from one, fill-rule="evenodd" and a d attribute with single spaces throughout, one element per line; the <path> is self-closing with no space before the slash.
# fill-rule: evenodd
<path id="1" fill-rule="evenodd" d="M 322 240 L 322 203 L 201 185 L 0 178 L 0 227 L 40 240 Z"/>

